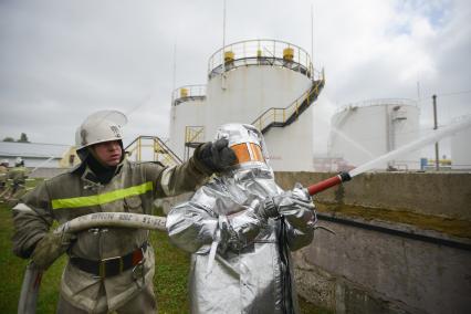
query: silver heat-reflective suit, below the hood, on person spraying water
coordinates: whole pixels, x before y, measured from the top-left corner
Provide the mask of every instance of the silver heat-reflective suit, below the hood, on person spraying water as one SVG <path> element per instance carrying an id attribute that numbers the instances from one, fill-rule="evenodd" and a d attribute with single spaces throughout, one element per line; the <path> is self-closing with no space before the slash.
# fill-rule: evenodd
<path id="1" fill-rule="evenodd" d="M 214 177 L 169 212 L 170 240 L 193 253 L 191 313 L 299 312 L 290 251 L 313 240 L 315 212 L 282 202 L 281 216 L 261 218 L 258 208 L 282 193 L 266 164 L 249 165 Z"/>

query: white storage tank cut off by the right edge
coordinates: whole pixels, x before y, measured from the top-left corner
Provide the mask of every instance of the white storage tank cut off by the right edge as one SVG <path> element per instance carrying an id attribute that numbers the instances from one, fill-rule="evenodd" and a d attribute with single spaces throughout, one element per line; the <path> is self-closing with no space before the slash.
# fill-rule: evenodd
<path id="1" fill-rule="evenodd" d="M 469 116 L 468 116 L 469 118 Z M 453 121 L 453 123 L 459 119 Z M 457 133 L 451 137 L 451 168 L 457 170 L 471 170 L 471 128 Z"/>

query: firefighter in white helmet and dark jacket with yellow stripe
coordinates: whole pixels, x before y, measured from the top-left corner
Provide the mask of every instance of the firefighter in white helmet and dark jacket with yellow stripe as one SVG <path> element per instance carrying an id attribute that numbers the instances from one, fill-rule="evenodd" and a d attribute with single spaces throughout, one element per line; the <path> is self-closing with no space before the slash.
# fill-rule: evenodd
<path id="1" fill-rule="evenodd" d="M 236 157 L 227 140 L 207 143 L 175 167 L 132 163 L 123 151 L 126 116 L 116 111 L 88 116 L 76 130 L 82 163 L 44 181 L 13 208 L 13 252 L 42 270 L 66 252 L 57 313 L 155 313 L 154 251 L 148 231 L 94 228 L 77 234 L 48 232 L 93 212 L 151 213 L 157 198 L 195 190 Z"/>

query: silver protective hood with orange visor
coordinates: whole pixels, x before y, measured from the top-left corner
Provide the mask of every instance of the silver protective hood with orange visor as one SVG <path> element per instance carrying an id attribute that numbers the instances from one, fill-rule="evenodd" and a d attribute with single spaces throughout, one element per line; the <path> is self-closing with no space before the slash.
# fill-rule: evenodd
<path id="1" fill-rule="evenodd" d="M 216 139 L 227 138 L 238 158 L 237 168 L 269 168 L 269 151 L 262 133 L 250 124 L 230 123 L 221 125 Z"/>

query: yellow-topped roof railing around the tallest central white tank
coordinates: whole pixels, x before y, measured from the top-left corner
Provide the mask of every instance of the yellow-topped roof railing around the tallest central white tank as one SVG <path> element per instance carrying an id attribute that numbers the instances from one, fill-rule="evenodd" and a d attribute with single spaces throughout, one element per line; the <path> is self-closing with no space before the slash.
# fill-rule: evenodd
<path id="1" fill-rule="evenodd" d="M 229 55 L 226 55 L 229 53 Z M 278 40 L 248 40 L 228 44 L 214 52 L 208 61 L 208 76 L 248 65 L 276 65 L 300 72 L 307 77 L 320 80 L 310 54 L 302 48 Z"/>

